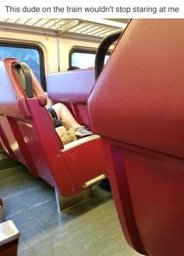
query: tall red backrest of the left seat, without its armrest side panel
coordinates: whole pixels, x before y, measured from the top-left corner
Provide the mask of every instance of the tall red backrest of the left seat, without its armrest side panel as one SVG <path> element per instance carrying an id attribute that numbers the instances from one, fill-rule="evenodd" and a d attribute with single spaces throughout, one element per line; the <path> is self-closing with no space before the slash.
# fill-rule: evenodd
<path id="1" fill-rule="evenodd" d="M 71 178 L 67 176 L 68 172 L 64 177 L 61 175 L 61 169 L 65 171 L 61 156 L 63 145 L 55 132 L 48 111 L 44 108 L 47 103 L 44 91 L 31 73 L 34 97 L 27 98 L 13 69 L 16 63 L 19 63 L 17 59 L 5 59 L 0 63 L 3 78 L 0 90 L 1 114 L 7 117 L 26 161 L 32 162 L 37 170 L 35 174 L 55 187 L 63 180 L 68 186 L 73 186 Z M 6 95 L 9 95 L 8 99 Z M 62 187 L 64 189 L 64 185 Z"/>

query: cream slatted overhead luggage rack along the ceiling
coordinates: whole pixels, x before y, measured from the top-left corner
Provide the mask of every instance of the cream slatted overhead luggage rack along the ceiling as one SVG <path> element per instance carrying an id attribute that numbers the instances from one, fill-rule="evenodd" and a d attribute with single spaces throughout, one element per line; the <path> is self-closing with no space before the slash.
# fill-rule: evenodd
<path id="1" fill-rule="evenodd" d="M 11 23 L 12 30 L 35 31 L 38 33 L 59 34 L 61 36 L 90 36 L 104 38 L 125 28 L 128 20 L 78 20 L 78 19 L 0 19 L 0 28 Z"/>

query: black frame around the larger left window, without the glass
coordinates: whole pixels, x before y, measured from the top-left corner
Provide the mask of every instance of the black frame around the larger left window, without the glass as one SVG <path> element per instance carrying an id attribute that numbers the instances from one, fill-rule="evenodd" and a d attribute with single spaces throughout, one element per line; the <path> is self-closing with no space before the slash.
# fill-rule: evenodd
<path id="1" fill-rule="evenodd" d="M 40 56 L 40 72 L 41 72 L 41 86 L 46 90 L 46 79 L 45 79 L 45 66 L 44 66 L 44 51 L 40 45 L 36 43 L 18 42 L 18 41 L 2 41 L 0 40 L 0 47 L 15 47 L 15 48 L 25 48 L 25 49 L 35 49 Z"/>

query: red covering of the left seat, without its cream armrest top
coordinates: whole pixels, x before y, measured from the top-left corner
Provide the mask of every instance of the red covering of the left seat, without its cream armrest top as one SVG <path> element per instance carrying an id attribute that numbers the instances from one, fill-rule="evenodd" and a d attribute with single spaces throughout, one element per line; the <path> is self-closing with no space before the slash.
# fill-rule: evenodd
<path id="1" fill-rule="evenodd" d="M 83 189 L 83 182 L 105 172 L 101 139 L 94 139 L 65 150 L 62 141 L 55 132 L 51 117 L 43 106 L 45 96 L 40 88 L 41 85 L 38 84 L 34 74 L 32 74 L 34 97 L 27 98 L 26 94 L 22 92 L 22 85 L 16 77 L 15 71 L 11 67 L 11 63 L 15 62 L 18 61 L 5 59 L 0 67 L 2 70 L 5 67 L 11 78 L 11 81 L 6 80 L 5 88 L 9 90 L 9 93 L 12 92 L 12 95 L 18 100 L 9 102 L 9 99 L 6 101 L 3 99 L 1 102 L 0 97 L 0 105 L 5 103 L 7 106 L 5 116 L 27 166 L 34 175 L 39 175 L 52 186 L 58 188 L 62 196 L 78 193 Z M 9 87 L 12 88 L 12 91 Z M 19 92 L 22 93 L 21 97 L 23 95 L 23 100 L 25 100 L 23 107 L 25 106 L 29 110 L 29 117 L 17 117 L 17 114 L 13 116 L 11 108 L 9 112 L 9 104 L 19 111 Z M 11 96 L 10 99 L 12 99 Z M 24 108 L 23 113 L 25 113 Z M 62 150 L 64 151 L 62 152 Z"/>

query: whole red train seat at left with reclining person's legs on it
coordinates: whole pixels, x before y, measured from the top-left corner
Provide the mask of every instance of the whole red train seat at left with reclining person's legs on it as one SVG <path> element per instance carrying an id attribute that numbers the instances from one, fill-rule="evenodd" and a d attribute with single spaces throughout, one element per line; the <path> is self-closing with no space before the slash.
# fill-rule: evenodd
<path id="1" fill-rule="evenodd" d="M 54 186 L 61 197 L 89 193 L 86 188 L 106 175 L 101 139 L 91 135 L 63 146 L 44 107 L 44 91 L 31 70 L 26 77 L 28 70 L 17 59 L 0 62 L 0 114 L 9 121 L 32 173 Z"/>

